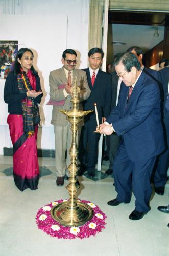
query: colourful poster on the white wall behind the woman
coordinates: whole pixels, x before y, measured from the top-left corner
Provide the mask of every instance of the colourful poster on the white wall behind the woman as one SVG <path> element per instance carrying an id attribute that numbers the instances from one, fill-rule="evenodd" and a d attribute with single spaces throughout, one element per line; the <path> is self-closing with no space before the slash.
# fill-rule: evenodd
<path id="1" fill-rule="evenodd" d="M 6 79 L 18 52 L 18 41 L 0 40 L 0 78 Z"/>

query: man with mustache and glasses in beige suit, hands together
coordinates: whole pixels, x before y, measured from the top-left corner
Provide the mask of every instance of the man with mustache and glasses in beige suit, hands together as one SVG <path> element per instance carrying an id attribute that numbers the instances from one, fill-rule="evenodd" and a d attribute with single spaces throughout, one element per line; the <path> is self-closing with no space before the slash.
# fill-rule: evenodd
<path id="1" fill-rule="evenodd" d="M 66 49 L 62 54 L 63 67 L 50 72 L 50 96 L 53 101 L 52 121 L 55 132 L 55 159 L 57 186 L 64 184 L 66 168 L 70 165 L 69 149 L 71 146 L 70 123 L 66 120 L 66 115 L 60 112 L 61 109 L 71 109 L 71 86 L 74 85 L 77 77 L 77 85 L 80 87 L 80 101 L 86 100 L 90 95 L 86 73 L 83 70 L 75 69 L 77 64 L 77 53 L 73 49 Z M 82 109 L 82 104 L 79 104 Z M 80 135 L 81 127 L 78 130 Z M 67 156 L 65 158 L 65 153 Z"/>

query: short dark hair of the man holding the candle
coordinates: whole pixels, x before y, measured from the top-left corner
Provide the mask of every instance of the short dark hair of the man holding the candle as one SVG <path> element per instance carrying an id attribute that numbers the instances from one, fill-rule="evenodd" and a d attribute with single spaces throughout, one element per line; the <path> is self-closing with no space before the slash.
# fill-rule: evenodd
<path id="1" fill-rule="evenodd" d="M 141 69 L 141 65 L 138 58 L 132 52 L 125 52 L 119 54 L 114 61 L 114 66 L 117 66 L 120 62 L 125 66 L 127 72 L 131 72 L 131 68 L 135 67 L 137 70 Z"/>

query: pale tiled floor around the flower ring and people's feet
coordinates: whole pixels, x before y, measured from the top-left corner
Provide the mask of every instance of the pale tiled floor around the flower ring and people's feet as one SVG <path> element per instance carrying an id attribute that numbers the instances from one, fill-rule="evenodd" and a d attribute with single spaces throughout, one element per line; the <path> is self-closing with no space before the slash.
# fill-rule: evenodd
<path id="1" fill-rule="evenodd" d="M 80 178 L 79 198 L 97 204 L 107 215 L 106 228 L 95 237 L 83 240 L 52 238 L 39 230 L 35 216 L 39 208 L 57 199 L 68 198 L 65 187 L 56 187 L 55 160 L 39 159 L 41 175 L 38 190 L 20 192 L 12 176 L 12 157 L 0 156 L 0 255 L 1 256 L 163 256 L 169 255 L 169 214 L 159 212 L 159 205 L 169 202 L 169 183 L 163 196 L 152 193 L 151 211 L 139 221 L 128 219 L 134 209 L 130 204 L 116 207 L 107 201 L 116 197 L 113 178 L 92 181 Z M 104 162 L 102 171 L 107 169 Z M 65 185 L 68 181 L 65 181 Z"/>

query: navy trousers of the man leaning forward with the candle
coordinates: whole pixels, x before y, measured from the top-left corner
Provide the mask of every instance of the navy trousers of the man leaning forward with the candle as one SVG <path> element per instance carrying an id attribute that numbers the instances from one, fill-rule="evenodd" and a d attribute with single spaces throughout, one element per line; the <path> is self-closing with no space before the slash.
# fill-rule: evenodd
<path id="1" fill-rule="evenodd" d="M 117 200 L 130 202 L 131 192 L 135 196 L 135 210 L 148 212 L 152 193 L 150 176 L 156 156 L 151 159 L 133 162 L 129 159 L 124 143 L 119 146 L 114 160 L 114 182 L 118 193 Z"/>

